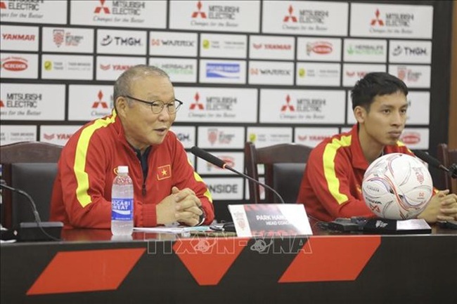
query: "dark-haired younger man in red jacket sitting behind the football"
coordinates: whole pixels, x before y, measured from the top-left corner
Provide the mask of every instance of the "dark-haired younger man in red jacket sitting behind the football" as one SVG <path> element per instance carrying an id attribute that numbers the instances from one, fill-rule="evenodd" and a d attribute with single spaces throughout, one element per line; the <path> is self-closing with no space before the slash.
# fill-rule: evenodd
<path id="1" fill-rule="evenodd" d="M 297 202 L 323 221 L 374 217 L 363 201 L 363 174 L 387 153 L 413 153 L 399 141 L 406 123 L 408 88 L 385 72 L 366 74 L 352 90 L 357 124 L 347 133 L 323 140 L 309 155 Z M 457 195 L 437 192 L 418 218 L 429 223 L 457 219 Z"/>

